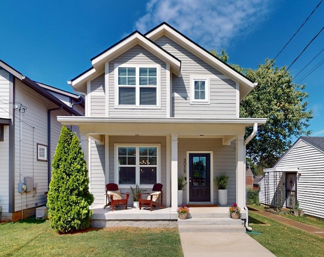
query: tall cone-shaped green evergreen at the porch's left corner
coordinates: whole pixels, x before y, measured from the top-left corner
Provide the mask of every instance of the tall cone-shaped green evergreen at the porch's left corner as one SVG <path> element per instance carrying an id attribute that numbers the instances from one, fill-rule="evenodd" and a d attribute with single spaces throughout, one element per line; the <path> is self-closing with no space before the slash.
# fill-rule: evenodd
<path id="1" fill-rule="evenodd" d="M 87 164 L 79 139 L 64 125 L 52 166 L 47 196 L 52 228 L 59 233 L 89 228 L 94 197 L 89 192 Z"/>

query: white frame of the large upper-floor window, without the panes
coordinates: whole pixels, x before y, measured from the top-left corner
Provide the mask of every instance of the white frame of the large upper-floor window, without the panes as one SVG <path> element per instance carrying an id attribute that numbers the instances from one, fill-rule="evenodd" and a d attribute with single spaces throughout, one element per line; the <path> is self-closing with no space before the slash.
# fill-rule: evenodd
<path id="1" fill-rule="evenodd" d="M 136 83 L 135 85 L 119 85 L 118 84 L 118 68 L 119 67 L 129 67 L 135 68 Z M 156 105 L 140 105 L 140 68 L 156 68 L 156 86 L 151 86 L 151 88 L 156 88 Z M 160 65 L 158 64 L 133 64 L 133 63 L 123 63 L 114 64 L 114 84 L 115 84 L 115 108 L 120 109 L 160 109 Z M 136 104 L 135 105 L 119 105 L 119 87 L 134 87 Z M 150 86 L 145 86 L 150 87 Z"/>

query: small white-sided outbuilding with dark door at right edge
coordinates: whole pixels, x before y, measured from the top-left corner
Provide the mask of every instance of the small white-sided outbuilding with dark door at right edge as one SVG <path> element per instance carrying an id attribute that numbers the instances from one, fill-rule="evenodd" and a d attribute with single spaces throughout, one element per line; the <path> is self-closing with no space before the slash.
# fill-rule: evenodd
<path id="1" fill-rule="evenodd" d="M 259 200 L 324 218 L 324 137 L 300 137 L 272 168 L 264 169 Z M 281 195 L 281 197 L 280 197 Z"/>

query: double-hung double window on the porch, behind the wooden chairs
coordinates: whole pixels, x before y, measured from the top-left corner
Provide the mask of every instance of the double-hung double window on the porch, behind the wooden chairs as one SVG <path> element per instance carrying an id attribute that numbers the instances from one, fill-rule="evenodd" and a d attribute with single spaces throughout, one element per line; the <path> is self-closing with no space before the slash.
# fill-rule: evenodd
<path id="1" fill-rule="evenodd" d="M 123 185 L 153 185 L 159 177 L 159 146 L 116 145 L 116 182 Z"/>

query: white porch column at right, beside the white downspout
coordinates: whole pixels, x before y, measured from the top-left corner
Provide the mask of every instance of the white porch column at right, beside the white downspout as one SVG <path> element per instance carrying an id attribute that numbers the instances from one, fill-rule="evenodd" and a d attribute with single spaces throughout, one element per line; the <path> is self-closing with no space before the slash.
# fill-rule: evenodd
<path id="1" fill-rule="evenodd" d="M 245 146 L 244 135 L 236 138 L 236 203 L 242 209 L 245 206 Z"/>

